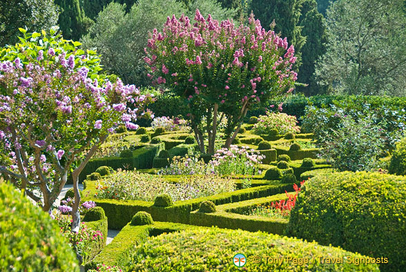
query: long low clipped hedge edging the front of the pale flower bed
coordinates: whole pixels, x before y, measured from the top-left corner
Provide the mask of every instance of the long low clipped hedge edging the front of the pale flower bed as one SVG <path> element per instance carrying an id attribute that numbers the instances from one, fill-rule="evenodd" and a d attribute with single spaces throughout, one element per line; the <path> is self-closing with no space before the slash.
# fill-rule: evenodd
<path id="1" fill-rule="evenodd" d="M 97 182 L 86 181 L 86 188 L 83 191 L 84 201 L 92 200 L 97 206 L 101 206 L 108 217 L 110 229 L 122 229 L 138 211 L 151 213 L 153 220 L 176 223 L 190 223 L 190 213 L 199 208 L 200 203 L 210 200 L 216 205 L 242 200 L 251 200 L 258 197 L 267 197 L 284 191 L 291 191 L 291 184 L 271 184 L 266 186 L 255 186 L 230 193 L 220 193 L 210 197 L 199 197 L 193 200 L 175 202 L 173 206 L 161 208 L 153 206 L 153 202 L 140 200 L 103 200 L 95 198 Z"/>

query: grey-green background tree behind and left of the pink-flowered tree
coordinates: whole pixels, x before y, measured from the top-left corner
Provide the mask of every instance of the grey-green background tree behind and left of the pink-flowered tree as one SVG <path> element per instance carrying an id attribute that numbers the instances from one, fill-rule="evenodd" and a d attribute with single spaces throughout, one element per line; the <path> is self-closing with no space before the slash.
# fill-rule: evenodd
<path id="1" fill-rule="evenodd" d="M 193 12 L 197 5 L 204 14 L 211 12 L 222 19 L 235 16 L 235 10 L 224 10 L 215 0 L 189 3 Z M 119 75 L 126 83 L 146 86 L 151 83 L 143 60 L 148 32 L 162 28 L 168 15 L 191 12 L 175 0 L 139 0 L 128 13 L 126 6 L 110 3 L 81 41 L 85 48 L 94 48 L 101 54 L 101 64 L 108 72 Z"/>

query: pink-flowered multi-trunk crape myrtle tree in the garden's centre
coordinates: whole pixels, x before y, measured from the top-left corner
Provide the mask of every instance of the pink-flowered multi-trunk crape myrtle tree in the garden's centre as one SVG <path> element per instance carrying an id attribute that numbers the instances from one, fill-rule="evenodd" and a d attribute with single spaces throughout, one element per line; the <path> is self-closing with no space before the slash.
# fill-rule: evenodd
<path id="1" fill-rule="evenodd" d="M 167 19 L 164 30 L 148 39 L 146 64 L 153 84 L 166 86 L 184 97 L 195 139 L 202 153 L 214 153 L 215 136 L 222 117 L 228 148 L 253 104 L 290 93 L 297 79 L 293 46 L 275 32 L 265 31 L 253 14 L 249 26 L 219 23 L 195 12 L 195 23 L 182 15 Z M 218 117 L 218 115 L 220 115 Z M 206 119 L 208 148 L 204 146 Z"/>

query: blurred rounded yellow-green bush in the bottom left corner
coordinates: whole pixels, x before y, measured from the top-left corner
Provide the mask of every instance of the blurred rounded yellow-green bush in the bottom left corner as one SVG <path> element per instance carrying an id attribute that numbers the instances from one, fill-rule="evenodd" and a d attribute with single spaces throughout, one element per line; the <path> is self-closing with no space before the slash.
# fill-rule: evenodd
<path id="1" fill-rule="evenodd" d="M 57 222 L 3 181 L 0 211 L 1 271 L 79 271 Z"/>

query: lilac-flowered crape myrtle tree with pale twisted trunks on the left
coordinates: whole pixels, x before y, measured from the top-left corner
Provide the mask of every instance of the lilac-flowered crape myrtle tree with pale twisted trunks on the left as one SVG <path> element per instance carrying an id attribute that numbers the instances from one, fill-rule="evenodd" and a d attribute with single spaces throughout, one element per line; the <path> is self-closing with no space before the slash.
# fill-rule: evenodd
<path id="1" fill-rule="evenodd" d="M 79 174 L 117 126 L 137 128 L 132 121 L 150 98 L 120 79 L 99 76 L 96 53 L 78 49 L 80 43 L 55 29 L 22 31 L 21 43 L 0 55 L 0 143 L 8 155 L 0 173 L 36 202 L 39 190 L 43 211 L 50 211 L 71 173 L 72 231 L 78 231 Z"/>

